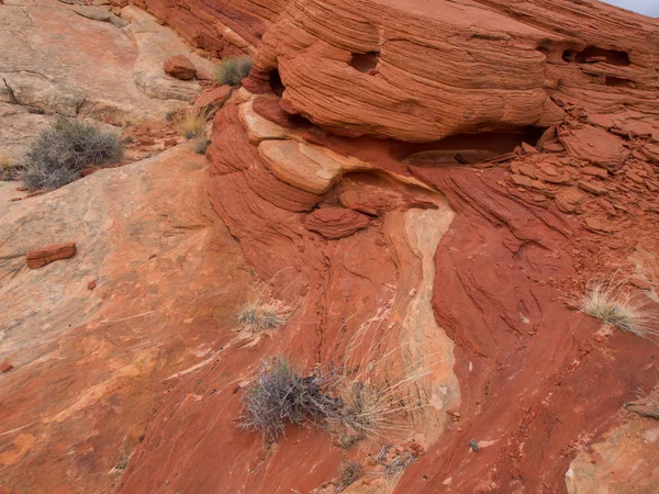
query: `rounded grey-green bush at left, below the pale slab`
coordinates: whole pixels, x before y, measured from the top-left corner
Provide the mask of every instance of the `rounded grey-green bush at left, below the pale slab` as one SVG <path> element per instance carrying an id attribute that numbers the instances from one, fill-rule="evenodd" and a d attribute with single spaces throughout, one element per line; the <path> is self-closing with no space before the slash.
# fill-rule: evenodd
<path id="1" fill-rule="evenodd" d="M 80 178 L 82 168 L 115 162 L 121 137 L 80 120 L 58 116 L 23 157 L 20 179 L 30 190 L 58 189 Z"/>

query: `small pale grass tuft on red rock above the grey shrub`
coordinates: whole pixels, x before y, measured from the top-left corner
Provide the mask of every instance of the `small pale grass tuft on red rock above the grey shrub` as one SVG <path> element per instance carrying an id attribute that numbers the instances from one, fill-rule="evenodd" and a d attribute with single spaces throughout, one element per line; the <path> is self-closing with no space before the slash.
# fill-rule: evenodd
<path id="1" fill-rule="evenodd" d="M 290 307 L 280 300 L 270 296 L 266 283 L 255 283 L 247 301 L 238 308 L 237 319 L 242 330 L 260 333 L 283 326 L 290 314 Z"/>

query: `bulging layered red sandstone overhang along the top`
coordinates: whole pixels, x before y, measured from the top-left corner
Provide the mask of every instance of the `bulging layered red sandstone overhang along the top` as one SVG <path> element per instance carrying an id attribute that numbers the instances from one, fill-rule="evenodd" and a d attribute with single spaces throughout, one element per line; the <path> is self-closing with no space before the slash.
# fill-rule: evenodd
<path id="1" fill-rule="evenodd" d="M 247 87 L 277 69 L 287 111 L 407 142 L 550 125 L 574 97 L 593 113 L 657 109 L 655 20 L 595 0 L 439 4 L 293 2 L 264 35 Z"/>

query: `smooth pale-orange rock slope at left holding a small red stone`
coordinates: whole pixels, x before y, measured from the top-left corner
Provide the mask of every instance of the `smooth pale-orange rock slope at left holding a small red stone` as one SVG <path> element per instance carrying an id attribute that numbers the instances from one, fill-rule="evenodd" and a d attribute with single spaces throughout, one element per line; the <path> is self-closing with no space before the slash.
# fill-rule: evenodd
<path id="1" fill-rule="evenodd" d="M 232 338 L 250 278 L 204 167 L 178 146 L 0 204 L 1 491 L 111 492 L 175 377 Z M 69 239 L 75 257 L 25 266 Z"/>

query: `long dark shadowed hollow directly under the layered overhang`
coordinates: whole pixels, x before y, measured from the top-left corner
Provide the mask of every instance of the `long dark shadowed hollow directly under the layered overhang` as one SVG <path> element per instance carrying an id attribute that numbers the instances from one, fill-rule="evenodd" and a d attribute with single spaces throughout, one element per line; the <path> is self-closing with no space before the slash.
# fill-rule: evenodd
<path id="1" fill-rule="evenodd" d="M 512 153 L 522 143 L 535 146 L 545 131 L 529 126 L 509 133 L 457 134 L 435 143 L 401 146 L 395 158 L 422 167 L 477 164 Z"/>

